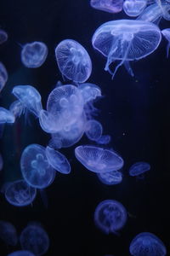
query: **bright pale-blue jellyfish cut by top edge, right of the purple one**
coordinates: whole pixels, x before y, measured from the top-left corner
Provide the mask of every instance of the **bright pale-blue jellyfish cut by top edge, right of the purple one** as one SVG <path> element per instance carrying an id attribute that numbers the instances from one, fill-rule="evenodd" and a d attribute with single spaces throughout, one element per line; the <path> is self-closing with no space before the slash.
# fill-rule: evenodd
<path id="1" fill-rule="evenodd" d="M 136 17 L 140 15 L 147 5 L 147 0 L 125 0 L 123 10 L 126 15 Z"/>

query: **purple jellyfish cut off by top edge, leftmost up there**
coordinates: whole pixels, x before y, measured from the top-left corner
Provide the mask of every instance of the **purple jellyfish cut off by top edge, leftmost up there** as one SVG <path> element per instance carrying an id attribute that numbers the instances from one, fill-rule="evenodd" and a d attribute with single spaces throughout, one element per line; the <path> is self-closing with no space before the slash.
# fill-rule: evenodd
<path id="1" fill-rule="evenodd" d="M 91 0 L 94 9 L 100 9 L 108 13 L 116 14 L 122 11 L 123 0 Z"/>

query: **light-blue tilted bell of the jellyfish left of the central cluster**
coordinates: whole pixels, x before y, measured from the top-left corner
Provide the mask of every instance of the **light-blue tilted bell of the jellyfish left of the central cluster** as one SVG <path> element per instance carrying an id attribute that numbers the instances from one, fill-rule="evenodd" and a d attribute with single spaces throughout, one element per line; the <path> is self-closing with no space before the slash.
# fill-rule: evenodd
<path id="1" fill-rule="evenodd" d="M 36 88 L 31 85 L 16 85 L 12 93 L 23 104 L 24 108 L 27 108 L 37 117 L 39 116 L 42 110 L 42 97 Z"/>

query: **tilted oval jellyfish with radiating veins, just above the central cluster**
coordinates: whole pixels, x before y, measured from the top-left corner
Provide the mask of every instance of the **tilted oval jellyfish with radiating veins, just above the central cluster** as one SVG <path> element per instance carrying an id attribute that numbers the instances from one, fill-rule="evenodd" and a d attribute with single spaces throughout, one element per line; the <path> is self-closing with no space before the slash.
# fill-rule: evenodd
<path id="1" fill-rule="evenodd" d="M 61 41 L 55 48 L 60 73 L 67 79 L 84 83 L 92 73 L 92 61 L 81 44 L 72 39 Z"/>

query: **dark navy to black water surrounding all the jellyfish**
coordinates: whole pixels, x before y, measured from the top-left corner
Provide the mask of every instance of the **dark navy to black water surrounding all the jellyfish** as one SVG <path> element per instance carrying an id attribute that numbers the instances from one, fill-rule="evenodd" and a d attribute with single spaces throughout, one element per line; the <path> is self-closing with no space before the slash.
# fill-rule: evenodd
<path id="1" fill-rule="evenodd" d="M 14 85 L 31 84 L 39 90 L 45 108 L 48 94 L 62 76 L 57 67 L 54 48 L 63 39 L 72 38 L 82 44 L 93 62 L 89 82 L 98 84 L 102 98 L 96 102 L 97 119 L 104 133 L 111 135 L 108 148 L 113 148 L 125 160 L 123 181 L 116 186 L 99 182 L 74 156 L 74 148 L 61 152 L 71 162 L 71 174 L 57 174 L 46 189 L 48 208 L 41 195 L 33 207 L 13 207 L 0 195 L 0 219 L 15 225 L 18 234 L 30 221 L 42 223 L 50 238 L 46 255 L 115 256 L 129 255 L 128 247 L 140 232 L 151 232 L 165 243 L 170 255 L 170 65 L 166 58 L 164 38 L 156 51 L 141 61 L 133 61 L 135 76 L 120 67 L 116 77 L 104 71 L 105 58 L 91 44 L 94 31 L 104 22 L 128 18 L 122 13 L 111 15 L 92 9 L 85 0 L 1 0 L 0 27 L 8 32 L 8 41 L 0 46 L 0 61 L 8 70 L 0 103 L 8 108 L 14 96 Z M 161 20 L 161 29 L 170 21 Z M 42 67 L 29 69 L 20 61 L 21 46 L 42 41 L 48 46 L 48 58 Z M 49 135 L 43 132 L 31 114 L 6 125 L 1 138 L 4 166 L 1 183 L 20 177 L 20 154 L 27 145 L 48 144 Z M 77 143 L 90 143 L 84 136 Z M 148 161 L 150 172 L 143 179 L 128 176 L 128 168 L 136 161 Z M 100 201 L 114 199 L 122 202 L 128 212 L 127 224 L 120 236 L 105 235 L 94 225 L 94 209 Z M 17 247 L 0 241 L 0 254 L 5 256 Z"/>

